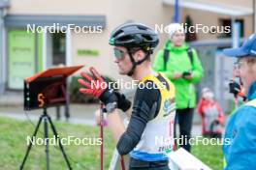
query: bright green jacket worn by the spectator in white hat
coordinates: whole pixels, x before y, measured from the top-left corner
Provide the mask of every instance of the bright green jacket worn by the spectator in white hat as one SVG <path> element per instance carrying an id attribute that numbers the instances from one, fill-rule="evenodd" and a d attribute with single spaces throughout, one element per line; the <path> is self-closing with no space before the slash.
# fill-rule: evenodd
<path id="1" fill-rule="evenodd" d="M 165 48 L 169 49 L 169 59 L 164 71 L 164 49 L 158 51 L 153 63 L 153 70 L 165 73 L 165 75 L 175 84 L 176 87 L 176 108 L 194 108 L 196 106 L 196 92 L 194 83 L 201 80 L 203 76 L 203 68 L 198 59 L 195 49 L 193 53 L 193 66 L 187 54 L 188 45 L 183 43 L 181 46 L 173 46 L 170 41 L 166 42 Z M 184 78 L 174 79 L 174 72 L 182 73 L 184 71 L 192 71 L 192 78 L 186 80 Z"/>

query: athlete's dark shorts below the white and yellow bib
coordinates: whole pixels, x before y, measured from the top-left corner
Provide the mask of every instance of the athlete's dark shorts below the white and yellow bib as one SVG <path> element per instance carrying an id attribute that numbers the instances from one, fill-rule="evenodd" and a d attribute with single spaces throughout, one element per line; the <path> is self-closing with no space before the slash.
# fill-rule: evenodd
<path id="1" fill-rule="evenodd" d="M 161 161 L 143 161 L 131 157 L 129 170 L 170 170 L 168 160 Z"/>

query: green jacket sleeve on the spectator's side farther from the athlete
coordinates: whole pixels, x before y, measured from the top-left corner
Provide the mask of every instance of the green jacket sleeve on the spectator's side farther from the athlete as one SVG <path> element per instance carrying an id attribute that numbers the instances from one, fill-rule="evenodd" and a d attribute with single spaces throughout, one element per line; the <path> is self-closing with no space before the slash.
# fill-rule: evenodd
<path id="1" fill-rule="evenodd" d="M 201 62 L 198 58 L 197 51 L 193 49 L 193 71 L 192 71 L 192 78 L 189 80 L 192 83 L 197 83 L 203 77 L 203 68 Z"/>

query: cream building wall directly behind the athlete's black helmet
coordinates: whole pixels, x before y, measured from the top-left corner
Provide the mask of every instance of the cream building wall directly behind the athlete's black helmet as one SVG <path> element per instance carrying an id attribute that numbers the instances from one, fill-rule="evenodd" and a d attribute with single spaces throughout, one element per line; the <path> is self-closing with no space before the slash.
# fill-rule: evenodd
<path id="1" fill-rule="evenodd" d="M 112 29 L 128 20 L 143 22 L 151 27 L 155 24 L 167 25 L 172 20 L 172 11 L 172 7 L 164 6 L 160 0 L 138 0 L 136 3 L 132 0 L 55 0 L 49 3 L 45 0 L 13 0 L 8 14 L 105 14 L 107 26 L 102 34 L 72 33 L 72 63 L 92 65 L 101 72 L 117 77 L 117 68 L 112 64 L 112 47 L 108 44 Z M 164 34 L 160 34 L 160 37 L 165 40 Z M 159 48 L 163 42 L 160 42 Z M 78 49 L 97 49 L 100 56 L 80 57 Z"/>

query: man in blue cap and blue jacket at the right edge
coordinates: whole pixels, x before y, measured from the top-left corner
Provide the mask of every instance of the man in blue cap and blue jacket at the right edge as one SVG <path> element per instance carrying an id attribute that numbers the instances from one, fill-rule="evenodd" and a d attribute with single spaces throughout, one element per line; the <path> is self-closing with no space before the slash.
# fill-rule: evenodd
<path id="1" fill-rule="evenodd" d="M 233 112 L 225 130 L 224 170 L 256 169 L 256 34 L 240 47 L 223 52 L 238 58 L 236 76 L 247 95 L 247 102 Z"/>

